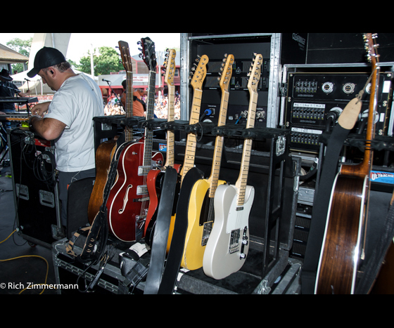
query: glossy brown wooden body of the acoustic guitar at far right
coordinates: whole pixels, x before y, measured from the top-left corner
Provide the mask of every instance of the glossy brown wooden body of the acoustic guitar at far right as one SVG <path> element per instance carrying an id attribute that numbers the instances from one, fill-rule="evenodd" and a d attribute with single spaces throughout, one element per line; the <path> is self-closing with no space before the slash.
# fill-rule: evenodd
<path id="1" fill-rule="evenodd" d="M 354 293 L 367 183 L 367 176 L 364 179 L 336 176 L 317 270 L 316 294 Z"/>

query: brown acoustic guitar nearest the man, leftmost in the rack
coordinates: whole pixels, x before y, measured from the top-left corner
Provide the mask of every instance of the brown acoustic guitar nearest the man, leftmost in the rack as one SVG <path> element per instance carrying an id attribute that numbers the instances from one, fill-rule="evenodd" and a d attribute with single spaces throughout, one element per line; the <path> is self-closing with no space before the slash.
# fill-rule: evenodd
<path id="1" fill-rule="evenodd" d="M 129 44 L 125 41 L 119 41 L 120 56 L 122 58 L 123 67 L 127 73 L 127 90 L 126 90 L 126 118 L 133 116 L 133 67 L 132 58 L 129 53 Z M 133 138 L 132 128 L 127 127 L 125 131 L 126 141 L 129 142 Z M 103 204 L 103 192 L 108 179 L 108 171 L 110 163 L 115 155 L 116 140 L 111 139 L 101 143 L 96 150 L 96 180 L 91 192 L 88 206 L 88 220 L 92 224 L 96 214 Z"/>

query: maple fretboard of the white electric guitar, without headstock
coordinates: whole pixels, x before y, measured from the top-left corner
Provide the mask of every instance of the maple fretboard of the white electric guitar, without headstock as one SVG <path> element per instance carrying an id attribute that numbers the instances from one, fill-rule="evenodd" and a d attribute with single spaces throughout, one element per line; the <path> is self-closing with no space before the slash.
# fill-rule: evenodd
<path id="1" fill-rule="evenodd" d="M 258 105 L 258 93 L 255 91 L 250 92 L 248 122 L 246 123 L 246 129 L 253 129 L 255 127 L 255 115 L 256 115 L 257 105 Z M 252 139 L 245 139 L 243 143 L 241 171 L 239 173 L 239 178 L 236 181 L 236 188 L 238 188 L 239 190 L 237 195 L 237 206 L 243 206 L 243 204 L 245 203 L 245 192 L 246 192 L 246 186 L 248 185 L 248 174 L 249 174 L 252 145 L 253 145 Z"/>

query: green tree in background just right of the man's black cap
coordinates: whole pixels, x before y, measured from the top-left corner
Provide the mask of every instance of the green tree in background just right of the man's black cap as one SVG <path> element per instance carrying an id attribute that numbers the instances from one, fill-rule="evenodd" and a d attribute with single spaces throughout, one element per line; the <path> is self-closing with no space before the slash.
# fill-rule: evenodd
<path id="1" fill-rule="evenodd" d="M 94 52 L 96 53 L 96 48 Z M 98 48 L 98 53 L 100 55 L 93 55 L 94 75 L 96 77 L 123 70 L 123 66 L 119 61 L 119 55 L 115 49 L 102 46 Z M 81 72 L 91 74 L 90 51 L 87 56 L 80 59 L 80 65 L 75 65 L 75 68 Z"/>

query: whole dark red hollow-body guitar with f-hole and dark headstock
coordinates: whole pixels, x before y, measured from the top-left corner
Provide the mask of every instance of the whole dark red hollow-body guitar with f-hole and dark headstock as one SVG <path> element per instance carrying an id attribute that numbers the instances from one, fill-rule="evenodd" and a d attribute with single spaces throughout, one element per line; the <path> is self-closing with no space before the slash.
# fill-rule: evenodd
<path id="1" fill-rule="evenodd" d="M 155 110 L 156 59 L 155 46 L 149 38 L 141 39 L 142 57 L 149 67 L 148 101 L 146 119 L 153 119 Z M 107 209 L 110 232 L 119 240 L 132 242 L 144 237 L 144 223 L 148 212 L 146 177 L 153 167 L 163 165 L 163 155 L 152 152 L 153 131 L 146 128 L 145 136 L 138 143 L 131 143 L 122 150 L 117 164 L 117 178 L 110 190 Z"/>

